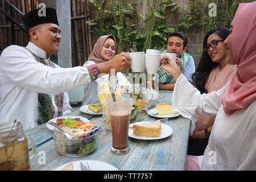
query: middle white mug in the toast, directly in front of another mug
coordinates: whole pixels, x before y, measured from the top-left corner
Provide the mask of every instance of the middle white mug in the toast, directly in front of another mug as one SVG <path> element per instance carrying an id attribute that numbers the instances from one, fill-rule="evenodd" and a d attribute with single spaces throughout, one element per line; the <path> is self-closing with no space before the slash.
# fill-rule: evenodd
<path id="1" fill-rule="evenodd" d="M 158 73 L 158 69 L 160 66 L 160 54 L 158 55 L 145 55 L 145 64 L 148 74 L 156 74 Z"/>

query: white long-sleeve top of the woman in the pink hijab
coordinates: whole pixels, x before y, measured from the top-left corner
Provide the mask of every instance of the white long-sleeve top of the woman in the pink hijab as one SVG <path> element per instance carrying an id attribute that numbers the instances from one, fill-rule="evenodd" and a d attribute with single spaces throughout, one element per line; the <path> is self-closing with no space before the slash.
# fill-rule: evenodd
<path id="1" fill-rule="evenodd" d="M 221 98 L 226 87 L 201 95 L 181 75 L 175 84 L 172 106 L 191 119 L 191 133 L 196 113 L 216 115 L 201 170 L 256 170 L 256 101 L 232 115 L 225 114 Z"/>

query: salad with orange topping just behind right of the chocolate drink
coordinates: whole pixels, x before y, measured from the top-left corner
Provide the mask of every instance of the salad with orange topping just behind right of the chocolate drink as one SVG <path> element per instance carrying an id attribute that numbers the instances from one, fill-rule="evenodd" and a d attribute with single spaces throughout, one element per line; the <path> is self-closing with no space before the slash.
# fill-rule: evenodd
<path id="1" fill-rule="evenodd" d="M 142 115 L 147 111 L 147 101 L 144 100 L 134 100 L 133 101 L 133 110 L 131 110 L 130 123 L 141 121 Z"/>

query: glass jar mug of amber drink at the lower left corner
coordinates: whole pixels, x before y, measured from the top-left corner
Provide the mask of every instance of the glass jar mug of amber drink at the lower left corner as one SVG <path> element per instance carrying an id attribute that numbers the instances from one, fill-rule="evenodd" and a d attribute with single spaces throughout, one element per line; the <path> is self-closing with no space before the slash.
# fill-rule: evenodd
<path id="1" fill-rule="evenodd" d="M 35 140 L 32 140 L 32 156 L 28 154 L 27 136 L 24 134 L 22 124 L 0 123 L 0 171 L 28 170 L 30 159 L 36 154 Z"/>

